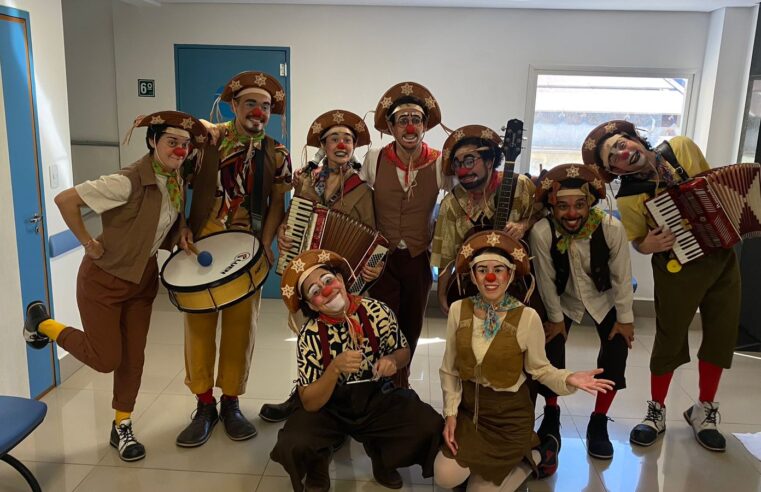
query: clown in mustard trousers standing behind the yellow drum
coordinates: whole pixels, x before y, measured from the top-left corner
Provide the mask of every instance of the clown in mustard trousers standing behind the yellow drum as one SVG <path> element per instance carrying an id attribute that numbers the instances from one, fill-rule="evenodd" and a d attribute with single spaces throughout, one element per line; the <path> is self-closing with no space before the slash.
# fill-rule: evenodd
<path id="1" fill-rule="evenodd" d="M 212 110 L 218 118 L 220 103 L 229 104 L 235 118 L 213 127 L 217 138 L 206 147 L 204 164 L 192 180 L 188 222 L 194 237 L 230 229 L 253 232 L 271 265 L 272 244 L 291 189 L 291 160 L 285 146 L 266 135 L 265 128 L 272 114 L 285 114 L 285 91 L 275 77 L 247 71 L 225 84 Z M 232 440 L 256 436 L 238 397 L 246 391 L 260 296 L 257 291 L 224 309 L 218 349 L 219 312 L 184 315 L 185 383 L 198 403 L 190 424 L 177 436 L 178 446 L 204 444 L 218 421 Z M 219 412 L 214 386 L 222 393 Z"/>

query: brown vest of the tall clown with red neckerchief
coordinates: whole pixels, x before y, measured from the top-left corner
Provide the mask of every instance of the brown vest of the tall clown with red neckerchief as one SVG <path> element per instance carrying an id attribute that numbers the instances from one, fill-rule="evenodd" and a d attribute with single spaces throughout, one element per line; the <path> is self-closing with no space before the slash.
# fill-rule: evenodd
<path id="1" fill-rule="evenodd" d="M 439 196 L 436 163 L 418 171 L 416 185 L 409 195 L 402 188 L 396 166 L 381 150 L 375 165 L 373 199 L 378 230 L 386 236 L 391 248 L 404 239 L 412 257 L 428 251 L 433 239 L 433 209 Z"/>

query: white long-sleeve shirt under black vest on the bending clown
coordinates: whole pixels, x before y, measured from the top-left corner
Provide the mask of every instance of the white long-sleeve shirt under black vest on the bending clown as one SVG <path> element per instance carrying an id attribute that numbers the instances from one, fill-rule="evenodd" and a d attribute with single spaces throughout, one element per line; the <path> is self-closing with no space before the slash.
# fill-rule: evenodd
<path id="1" fill-rule="evenodd" d="M 632 323 L 634 312 L 632 302 L 632 268 L 629 258 L 629 241 L 623 224 L 615 217 L 606 214 L 600 227 L 603 228 L 605 242 L 610 248 L 610 283 L 612 287 L 600 292 L 591 276 L 591 238 L 571 241 L 568 247 L 568 260 L 571 273 L 565 292 L 558 296 L 555 288 L 555 266 L 552 263 L 552 231 L 550 218 L 540 220 L 529 233 L 531 254 L 534 257 L 534 269 L 539 283 L 539 293 L 547 309 L 547 316 L 552 322 L 563 321 L 565 314 L 580 323 L 587 311 L 597 322 L 601 323 L 610 309 L 615 306 L 619 323 Z M 559 232 L 556 230 L 555 234 Z"/>

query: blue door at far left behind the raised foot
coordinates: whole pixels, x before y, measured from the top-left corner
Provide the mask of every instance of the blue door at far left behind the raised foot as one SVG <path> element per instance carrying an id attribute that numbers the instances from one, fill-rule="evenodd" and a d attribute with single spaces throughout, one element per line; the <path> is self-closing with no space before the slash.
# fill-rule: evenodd
<path id="1" fill-rule="evenodd" d="M 0 7 L 0 67 L 11 187 L 19 257 L 22 305 L 44 300 L 51 305 L 46 252 L 44 188 L 41 176 L 32 43 L 27 12 Z M 19 327 L 19 336 L 21 336 Z M 55 386 L 58 358 L 53 344 L 27 348 L 30 393 L 40 396 Z"/>

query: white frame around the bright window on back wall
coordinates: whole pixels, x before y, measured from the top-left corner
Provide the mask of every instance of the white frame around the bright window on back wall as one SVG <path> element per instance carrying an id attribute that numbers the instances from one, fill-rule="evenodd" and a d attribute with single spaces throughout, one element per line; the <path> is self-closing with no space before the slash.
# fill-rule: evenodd
<path id="1" fill-rule="evenodd" d="M 682 109 L 681 134 L 692 138 L 695 131 L 694 109 L 697 107 L 699 93 L 698 69 L 646 68 L 646 67 L 594 67 L 594 66 L 535 66 L 529 65 L 528 84 L 526 88 L 526 108 L 524 118 L 524 137 L 526 147 L 521 154 L 518 171 L 531 171 L 531 150 L 533 145 L 534 118 L 536 115 L 537 82 L 540 75 L 576 75 L 587 77 L 643 77 L 643 78 L 683 78 L 687 79 Z M 581 144 L 579 142 L 579 147 Z"/>

